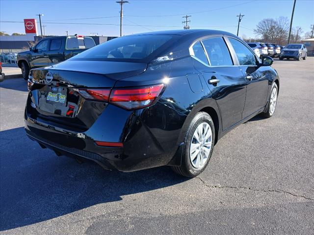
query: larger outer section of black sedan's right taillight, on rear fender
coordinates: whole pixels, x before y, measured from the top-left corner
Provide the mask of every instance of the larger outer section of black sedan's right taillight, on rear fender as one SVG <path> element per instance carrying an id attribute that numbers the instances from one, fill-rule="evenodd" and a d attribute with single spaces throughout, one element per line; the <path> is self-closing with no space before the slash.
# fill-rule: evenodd
<path id="1" fill-rule="evenodd" d="M 111 91 L 109 103 L 124 109 L 140 109 L 152 105 L 163 90 L 163 84 L 138 88 L 116 88 Z"/>

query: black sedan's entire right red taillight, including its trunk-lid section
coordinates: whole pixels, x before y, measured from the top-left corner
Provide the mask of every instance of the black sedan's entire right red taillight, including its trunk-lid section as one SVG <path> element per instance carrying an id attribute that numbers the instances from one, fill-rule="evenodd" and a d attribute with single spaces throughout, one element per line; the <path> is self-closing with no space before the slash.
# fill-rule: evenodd
<path id="1" fill-rule="evenodd" d="M 109 102 L 124 109 L 140 109 L 157 101 L 164 85 L 110 89 L 78 89 L 85 99 Z"/>

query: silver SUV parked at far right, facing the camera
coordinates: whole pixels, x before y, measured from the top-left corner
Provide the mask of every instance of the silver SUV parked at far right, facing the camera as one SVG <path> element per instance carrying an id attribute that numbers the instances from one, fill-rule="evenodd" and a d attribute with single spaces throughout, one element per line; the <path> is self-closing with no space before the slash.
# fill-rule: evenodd
<path id="1" fill-rule="evenodd" d="M 303 44 L 289 44 L 287 47 L 281 50 L 281 54 L 279 56 L 280 60 L 284 58 L 288 59 L 296 59 L 296 60 L 305 60 L 308 55 L 308 50 Z"/>

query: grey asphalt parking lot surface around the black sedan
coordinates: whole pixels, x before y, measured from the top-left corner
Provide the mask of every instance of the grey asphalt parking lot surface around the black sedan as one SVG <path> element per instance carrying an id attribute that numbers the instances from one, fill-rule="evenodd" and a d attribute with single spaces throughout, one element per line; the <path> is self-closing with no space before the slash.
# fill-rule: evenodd
<path id="1" fill-rule="evenodd" d="M 314 57 L 273 67 L 274 117 L 223 137 L 194 179 L 57 157 L 26 137 L 26 81 L 0 83 L 0 234 L 314 234 Z"/>

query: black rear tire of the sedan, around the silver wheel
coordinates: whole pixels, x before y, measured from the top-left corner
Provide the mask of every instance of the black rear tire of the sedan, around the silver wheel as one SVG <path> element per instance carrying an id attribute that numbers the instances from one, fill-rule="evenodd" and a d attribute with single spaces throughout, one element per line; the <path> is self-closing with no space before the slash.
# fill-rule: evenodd
<path id="1" fill-rule="evenodd" d="M 206 163 L 200 168 L 195 168 L 190 161 L 190 146 L 191 146 L 191 141 L 193 138 L 193 134 L 196 130 L 196 128 L 201 124 L 207 122 L 210 126 L 211 129 L 211 147 L 209 151 L 209 157 L 206 160 Z M 186 134 L 185 134 L 185 139 L 184 139 L 184 146 L 183 146 L 183 159 L 182 159 L 182 164 L 180 166 L 171 166 L 174 172 L 183 175 L 185 177 L 193 178 L 198 176 L 200 173 L 203 172 L 203 170 L 206 168 L 206 166 L 209 163 L 212 150 L 214 147 L 214 141 L 215 141 L 215 127 L 214 123 L 209 116 L 208 113 L 205 112 L 199 112 L 195 115 L 195 117 L 192 119 L 189 127 L 187 128 Z"/>

